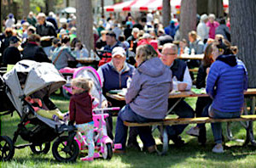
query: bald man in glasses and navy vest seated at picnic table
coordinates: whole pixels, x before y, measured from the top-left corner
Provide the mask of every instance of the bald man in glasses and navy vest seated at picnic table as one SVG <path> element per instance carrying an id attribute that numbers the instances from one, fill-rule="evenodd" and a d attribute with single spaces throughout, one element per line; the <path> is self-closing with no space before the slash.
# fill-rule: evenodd
<path id="1" fill-rule="evenodd" d="M 172 70 L 173 90 L 186 91 L 190 90 L 192 80 L 189 75 L 189 68 L 183 60 L 177 59 L 177 46 L 172 43 L 166 43 L 162 49 L 161 60 Z M 169 98 L 169 109 L 178 101 L 178 98 Z M 184 100 L 181 100 L 172 112 L 181 118 L 193 118 L 194 110 Z M 183 132 L 188 125 L 167 126 L 167 134 L 177 146 L 183 145 L 183 140 L 179 134 Z"/>

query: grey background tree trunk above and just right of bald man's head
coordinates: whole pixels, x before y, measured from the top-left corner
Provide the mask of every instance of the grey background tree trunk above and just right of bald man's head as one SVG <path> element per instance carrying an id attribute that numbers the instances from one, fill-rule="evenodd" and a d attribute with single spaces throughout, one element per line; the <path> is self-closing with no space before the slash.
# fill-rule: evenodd
<path id="1" fill-rule="evenodd" d="M 189 31 L 196 29 L 196 0 L 182 0 L 180 16 L 180 36 L 188 40 Z"/>

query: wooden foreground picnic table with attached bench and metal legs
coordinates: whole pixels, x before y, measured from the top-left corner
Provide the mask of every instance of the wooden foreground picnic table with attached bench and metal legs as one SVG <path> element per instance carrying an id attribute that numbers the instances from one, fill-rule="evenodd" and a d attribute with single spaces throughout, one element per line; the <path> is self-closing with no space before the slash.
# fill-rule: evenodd
<path id="1" fill-rule="evenodd" d="M 194 91 L 193 91 L 194 90 Z M 240 143 L 252 143 L 256 146 L 256 142 L 253 136 L 253 120 L 256 120 L 255 115 L 255 104 L 256 104 L 256 88 L 249 88 L 247 92 L 244 93 L 245 95 L 245 104 L 247 104 L 247 100 L 251 103 L 250 107 L 247 108 L 245 105 L 243 115 L 241 118 L 236 119 L 212 119 L 209 117 L 198 117 L 198 118 L 175 118 L 175 119 L 165 119 L 159 122 L 150 122 L 150 123 L 132 123 L 124 121 L 125 126 L 160 126 L 160 133 L 163 137 L 163 148 L 161 151 L 162 154 L 166 154 L 168 150 L 168 137 L 166 132 L 166 126 L 169 125 L 180 125 L 180 124 L 194 124 L 194 123 L 211 123 L 211 122 L 227 122 L 227 137 L 231 141 L 237 141 Z M 107 93 L 107 96 L 110 98 L 114 98 L 119 101 L 125 101 L 125 93 L 124 92 L 113 92 Z M 172 109 L 183 99 L 183 98 L 195 98 L 195 97 L 208 97 L 207 93 L 200 89 L 192 89 L 192 91 L 184 91 L 184 92 L 170 92 L 169 98 L 178 98 L 177 102 L 173 104 L 172 108 L 169 109 L 166 115 L 172 112 Z M 249 109 L 249 110 L 248 110 Z M 241 121 L 241 126 L 243 126 L 247 130 L 246 140 L 236 139 L 232 136 L 232 132 L 230 129 L 230 124 L 232 121 Z"/>

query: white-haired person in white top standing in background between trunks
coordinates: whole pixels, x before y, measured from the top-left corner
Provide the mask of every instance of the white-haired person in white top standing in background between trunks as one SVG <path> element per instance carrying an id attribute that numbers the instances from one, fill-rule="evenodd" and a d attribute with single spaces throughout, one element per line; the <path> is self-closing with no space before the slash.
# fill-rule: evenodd
<path id="1" fill-rule="evenodd" d="M 201 37 L 201 41 L 206 43 L 209 35 L 209 27 L 207 27 L 208 16 L 207 14 L 202 14 L 200 18 L 200 23 L 197 25 L 196 33 Z"/>

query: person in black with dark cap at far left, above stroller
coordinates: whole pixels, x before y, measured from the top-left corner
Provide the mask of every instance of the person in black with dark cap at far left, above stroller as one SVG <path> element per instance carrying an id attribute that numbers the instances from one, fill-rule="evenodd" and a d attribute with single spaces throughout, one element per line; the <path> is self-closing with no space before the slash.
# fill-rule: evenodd
<path id="1" fill-rule="evenodd" d="M 20 40 L 17 36 L 11 36 L 9 40 L 9 47 L 3 52 L 3 65 L 16 64 L 20 61 L 20 51 L 18 49 Z"/>

